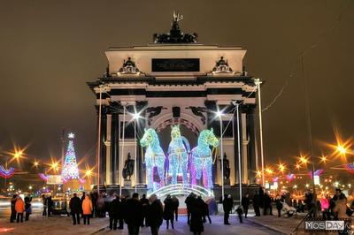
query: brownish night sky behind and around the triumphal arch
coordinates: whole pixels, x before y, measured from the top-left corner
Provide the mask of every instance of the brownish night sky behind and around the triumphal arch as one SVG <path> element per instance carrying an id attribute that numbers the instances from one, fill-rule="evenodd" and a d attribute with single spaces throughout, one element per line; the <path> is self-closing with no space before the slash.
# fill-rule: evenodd
<path id="1" fill-rule="evenodd" d="M 329 151 L 335 128 L 354 133 L 354 2 L 348 1 L 0 1 L 0 148 L 60 156 L 62 128 L 76 154 L 94 163 L 95 96 L 85 82 L 102 76 L 104 50 L 146 45 L 170 28 L 205 44 L 248 49 L 244 64 L 262 87 L 266 163 L 308 151 L 304 55 L 314 154 Z M 288 85 L 286 85 L 288 84 Z"/>

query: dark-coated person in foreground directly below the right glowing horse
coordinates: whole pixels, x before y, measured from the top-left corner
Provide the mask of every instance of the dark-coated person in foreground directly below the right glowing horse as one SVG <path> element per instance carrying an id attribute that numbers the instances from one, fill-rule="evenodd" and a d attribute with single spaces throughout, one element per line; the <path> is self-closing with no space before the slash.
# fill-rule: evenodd
<path id="1" fill-rule="evenodd" d="M 203 216 L 204 201 L 202 198 L 197 198 L 190 205 L 190 231 L 195 235 L 200 235 L 204 231 Z"/>

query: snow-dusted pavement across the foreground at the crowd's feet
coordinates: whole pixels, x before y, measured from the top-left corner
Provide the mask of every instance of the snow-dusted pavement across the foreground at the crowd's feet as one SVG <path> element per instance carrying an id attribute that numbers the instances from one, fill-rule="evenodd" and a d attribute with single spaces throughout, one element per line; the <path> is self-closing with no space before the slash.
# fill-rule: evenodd
<path id="1" fill-rule="evenodd" d="M 212 224 L 204 224 L 204 233 L 208 234 L 280 234 L 276 231 L 269 230 L 265 226 L 253 224 L 249 221 L 240 224 L 236 216 L 230 216 L 230 224 L 223 224 L 223 216 L 211 216 Z M 123 231 L 110 231 L 107 226 L 108 218 L 93 218 L 90 225 L 73 225 L 71 217 L 67 216 L 51 216 L 42 217 L 33 215 L 30 221 L 24 223 L 10 224 L 7 219 L 0 219 L 0 234 L 50 234 L 50 235 L 69 235 L 69 234 L 127 234 L 127 224 Z M 142 228 L 141 234 L 150 234 L 150 228 Z M 160 228 L 159 234 L 192 234 L 187 224 L 187 216 L 179 216 L 179 221 L 175 223 L 174 230 L 165 229 L 164 224 Z"/>

